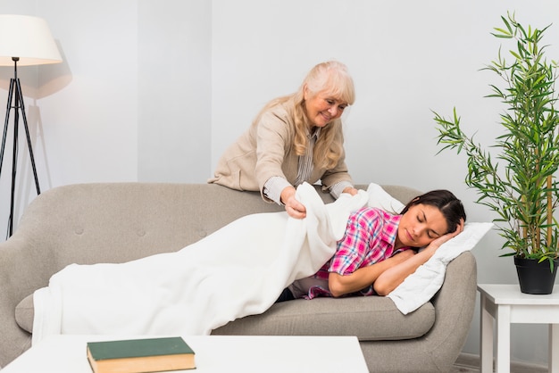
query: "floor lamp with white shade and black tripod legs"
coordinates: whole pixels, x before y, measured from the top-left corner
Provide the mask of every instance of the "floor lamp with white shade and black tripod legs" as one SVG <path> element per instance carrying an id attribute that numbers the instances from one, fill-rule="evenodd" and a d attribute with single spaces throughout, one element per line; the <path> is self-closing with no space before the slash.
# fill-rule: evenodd
<path id="1" fill-rule="evenodd" d="M 13 204 L 15 197 L 15 180 L 18 159 L 18 143 L 20 115 L 23 120 L 23 128 L 27 137 L 29 158 L 35 178 L 37 194 L 41 190 L 38 185 L 35 158 L 29 137 L 29 126 L 25 115 L 25 105 L 21 94 L 21 84 L 18 78 L 18 66 L 41 65 L 46 63 L 62 62 L 63 59 L 58 52 L 58 47 L 46 24 L 46 21 L 28 15 L 0 14 L 0 66 L 13 66 L 13 78 L 10 79 L 8 91 L 8 103 L 4 120 L 4 133 L 2 137 L 2 148 L 0 149 L 0 180 L 2 177 L 2 164 L 4 163 L 4 151 L 6 137 L 10 123 L 10 112 L 13 110 L 13 158 L 12 158 L 12 190 L 10 198 L 10 216 L 8 218 L 8 236 L 13 233 Z"/>

